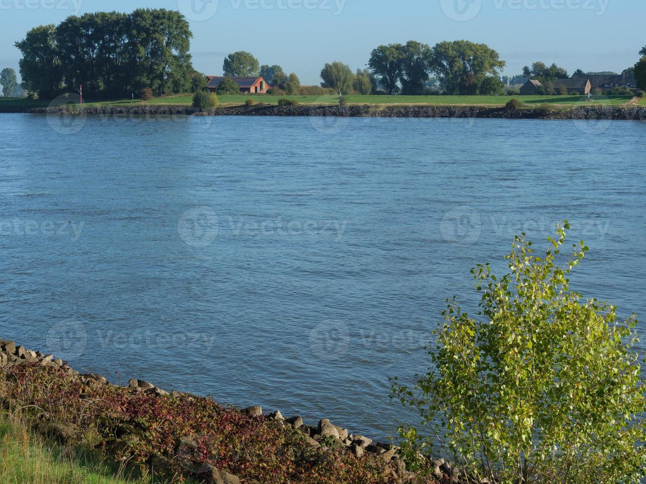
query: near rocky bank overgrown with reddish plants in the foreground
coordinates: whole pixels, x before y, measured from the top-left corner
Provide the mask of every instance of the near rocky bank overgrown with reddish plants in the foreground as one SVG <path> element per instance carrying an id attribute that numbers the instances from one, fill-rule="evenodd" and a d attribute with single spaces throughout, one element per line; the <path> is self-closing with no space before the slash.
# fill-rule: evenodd
<path id="1" fill-rule="evenodd" d="M 38 388 L 34 388 L 37 385 L 47 386 L 45 392 L 41 394 Z M 56 390 L 56 385 L 61 389 Z M 60 405 L 52 403 L 59 399 Z M 106 401 L 107 407 L 96 409 L 95 407 L 100 407 L 99 399 Z M 253 474 L 253 469 L 247 469 L 247 467 L 251 464 L 238 467 L 247 472 L 246 476 L 237 476 L 232 469 L 218 467 L 216 463 L 227 462 L 227 459 L 218 456 L 206 457 L 206 452 L 203 450 L 206 448 L 203 447 L 204 442 L 209 440 L 209 432 L 213 433 L 215 429 L 202 422 L 200 422 L 201 427 L 197 425 L 196 415 L 199 415 L 200 419 L 210 415 L 218 421 L 225 416 L 228 423 L 222 427 L 224 429 L 238 425 L 240 430 L 238 434 L 233 435 L 233 441 L 236 442 L 233 447 L 238 446 L 237 442 L 240 439 L 242 441 L 250 439 L 249 434 L 260 436 L 265 446 L 260 453 L 267 452 L 267 455 L 263 456 L 266 459 L 270 452 L 267 449 L 271 449 L 269 445 L 271 436 L 278 436 L 278 441 L 283 445 L 287 442 L 287 445 L 291 446 L 291 449 L 283 448 L 276 451 L 276 454 L 282 456 L 280 459 L 289 455 L 289 459 L 280 461 L 280 465 L 291 466 L 294 469 L 293 472 L 300 473 L 302 476 L 305 476 L 306 472 L 314 472 L 313 469 L 318 467 L 330 469 L 329 466 L 337 465 L 346 467 L 344 472 L 347 472 L 348 467 L 357 465 L 360 466 L 359 470 L 352 474 L 354 477 L 351 479 L 365 479 L 365 482 L 459 482 L 464 478 L 459 469 L 444 459 L 425 459 L 428 469 L 424 475 L 409 472 L 406 463 L 399 455 L 399 447 L 353 434 L 345 427 L 334 425 L 329 419 L 320 419 L 316 425 L 307 425 L 300 416 L 287 418 L 280 411 L 266 414 L 258 406 L 243 409 L 220 407 L 210 399 L 178 390 L 169 392 L 141 379 L 130 379 L 127 385 L 120 387 L 110 383 L 103 376 L 81 374 L 62 359 L 55 358 L 53 354 L 35 352 L 22 345 L 16 345 L 13 341 L 0 340 L 0 407 L 32 410 L 36 408 L 37 410 L 34 410 L 36 413 L 29 416 L 35 429 L 62 443 L 82 445 L 81 435 L 95 426 L 88 425 L 87 421 L 83 423 L 81 418 L 74 416 L 72 408 L 79 402 L 87 414 L 95 412 L 92 418 L 99 421 L 96 429 L 98 429 L 99 440 L 103 441 L 101 449 L 109 455 L 117 456 L 118 460 L 136 460 L 138 458 L 136 450 L 145 449 L 146 436 L 151 429 L 141 428 L 141 422 L 149 419 L 145 416 L 143 408 L 153 408 L 152 414 L 160 414 L 164 421 L 174 420 L 174 425 L 169 429 L 176 430 L 178 419 L 184 419 L 185 429 L 191 429 L 190 432 L 178 430 L 179 433 L 168 441 L 166 450 L 151 447 L 151 450 L 139 452 L 141 454 L 139 459 L 140 461 L 144 459 L 149 469 L 168 469 L 168 472 L 174 474 L 177 474 L 178 467 L 172 468 L 172 465 L 180 463 L 180 469 L 187 476 L 208 483 L 260 483 L 260 481 L 272 482 L 273 479 L 269 475 L 266 478 L 263 476 L 249 478 L 249 474 Z M 59 411 L 59 407 L 64 409 L 62 414 L 68 415 L 66 419 L 52 418 Z M 115 407 L 119 411 L 110 413 L 114 412 Z M 191 413 L 192 408 L 199 408 L 200 412 Z M 212 413 L 206 412 L 205 408 Z M 211 408 L 214 410 L 209 410 Z M 196 421 L 191 422 L 191 419 Z M 150 422 L 148 425 L 155 429 L 161 428 L 161 423 Z M 253 427 L 254 430 L 250 432 L 249 425 L 256 425 L 256 427 Z M 218 432 L 214 433 L 218 434 Z M 168 433 L 160 435 L 166 437 Z M 151 438 L 152 445 L 154 446 L 160 439 L 163 440 L 159 437 Z M 218 439 L 222 437 L 218 435 L 216 441 Z M 132 449 L 130 446 L 133 446 Z M 168 446 L 173 450 L 169 451 Z M 213 447 L 215 446 L 212 443 L 211 449 Z M 230 449 L 223 451 L 222 454 L 228 455 L 229 452 Z M 247 450 L 247 453 L 249 452 L 251 451 Z M 243 459 L 240 449 L 234 450 L 234 454 L 237 456 L 236 459 Z M 266 467 L 267 470 L 263 472 L 271 472 L 271 466 L 266 465 Z M 334 471 L 331 472 L 334 473 Z M 349 474 L 343 474 L 343 476 L 347 475 Z M 313 480 L 303 478 L 294 481 L 329 482 L 324 480 L 324 477 L 324 475 L 314 474 Z M 340 477 L 333 479 L 337 481 L 336 479 Z M 287 479 L 287 482 L 291 481 Z"/>

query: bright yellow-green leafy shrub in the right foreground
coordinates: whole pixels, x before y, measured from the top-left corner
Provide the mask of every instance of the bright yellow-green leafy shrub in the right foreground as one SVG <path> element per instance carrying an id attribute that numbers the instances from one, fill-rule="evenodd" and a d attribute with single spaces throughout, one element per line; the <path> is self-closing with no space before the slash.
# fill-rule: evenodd
<path id="1" fill-rule="evenodd" d="M 635 316 L 570 291 L 583 242 L 561 254 L 569 225 L 544 257 L 516 237 L 510 274 L 472 270 L 481 320 L 448 300 L 430 349 L 432 367 L 393 398 L 419 411 L 475 477 L 519 482 L 638 482 L 645 473 L 646 400 Z M 402 427 L 409 465 L 432 438 Z M 437 454 L 435 454 L 437 455 Z"/>

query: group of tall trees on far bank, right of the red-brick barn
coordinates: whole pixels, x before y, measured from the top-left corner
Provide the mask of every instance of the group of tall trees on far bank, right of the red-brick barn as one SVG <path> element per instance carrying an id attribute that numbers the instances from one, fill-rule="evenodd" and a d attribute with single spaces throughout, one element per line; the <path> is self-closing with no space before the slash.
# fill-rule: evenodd
<path id="1" fill-rule="evenodd" d="M 431 76 L 445 94 L 500 94 L 505 67 L 498 52 L 469 41 L 441 42 L 430 47 L 417 41 L 381 45 L 368 66 L 388 94 L 425 94 Z"/>

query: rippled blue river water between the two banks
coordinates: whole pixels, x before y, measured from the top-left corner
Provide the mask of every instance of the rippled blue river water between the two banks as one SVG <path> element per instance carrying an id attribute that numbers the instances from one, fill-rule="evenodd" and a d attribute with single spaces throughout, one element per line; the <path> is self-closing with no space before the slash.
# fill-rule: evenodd
<path id="1" fill-rule="evenodd" d="M 0 115 L 0 338 L 76 368 L 383 438 L 444 299 L 564 218 L 646 318 L 644 123 L 76 123 Z"/>

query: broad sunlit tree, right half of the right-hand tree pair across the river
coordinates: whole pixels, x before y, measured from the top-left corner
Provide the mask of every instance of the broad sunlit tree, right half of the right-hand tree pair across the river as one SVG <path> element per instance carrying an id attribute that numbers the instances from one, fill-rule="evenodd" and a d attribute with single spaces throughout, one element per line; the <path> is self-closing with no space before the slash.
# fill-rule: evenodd
<path id="1" fill-rule="evenodd" d="M 486 44 L 464 40 L 435 45 L 430 64 L 446 94 L 466 92 L 474 84 L 479 86 L 485 76 L 499 76 L 506 65 L 498 52 Z"/>

